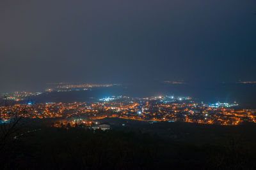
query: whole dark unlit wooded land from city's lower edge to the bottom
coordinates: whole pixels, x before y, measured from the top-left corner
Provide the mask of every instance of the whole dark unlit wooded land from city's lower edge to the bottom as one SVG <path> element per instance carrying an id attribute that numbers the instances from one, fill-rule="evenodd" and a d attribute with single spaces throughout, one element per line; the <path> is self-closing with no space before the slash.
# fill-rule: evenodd
<path id="1" fill-rule="evenodd" d="M 256 168 L 253 124 L 148 124 L 116 118 L 100 122 L 108 122 L 112 129 L 38 124 L 40 130 L 12 140 L 2 149 L 1 169 Z"/>

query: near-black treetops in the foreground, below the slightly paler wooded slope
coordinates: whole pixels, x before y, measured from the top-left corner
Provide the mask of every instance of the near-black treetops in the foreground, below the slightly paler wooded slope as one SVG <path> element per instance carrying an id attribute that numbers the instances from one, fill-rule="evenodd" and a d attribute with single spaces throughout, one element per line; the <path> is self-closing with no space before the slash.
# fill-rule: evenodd
<path id="1" fill-rule="evenodd" d="M 255 147 L 163 138 L 157 134 L 41 127 L 10 141 L 0 169 L 255 169 Z"/>

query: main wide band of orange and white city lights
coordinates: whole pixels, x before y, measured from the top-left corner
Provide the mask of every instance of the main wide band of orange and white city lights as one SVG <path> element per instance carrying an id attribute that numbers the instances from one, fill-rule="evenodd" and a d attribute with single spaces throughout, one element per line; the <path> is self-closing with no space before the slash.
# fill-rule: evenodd
<path id="1" fill-rule="evenodd" d="M 60 118 L 64 124 L 92 124 L 106 117 L 145 122 L 190 122 L 196 124 L 239 125 L 256 123 L 256 110 L 237 109 L 237 103 L 196 103 L 191 97 L 159 96 L 132 98 L 111 96 L 93 103 L 28 103 L 2 106 L 1 119 L 8 121 L 8 113 L 26 107 L 26 118 Z M 79 120 L 78 122 L 76 120 Z M 56 125 L 58 124 L 56 120 Z"/>

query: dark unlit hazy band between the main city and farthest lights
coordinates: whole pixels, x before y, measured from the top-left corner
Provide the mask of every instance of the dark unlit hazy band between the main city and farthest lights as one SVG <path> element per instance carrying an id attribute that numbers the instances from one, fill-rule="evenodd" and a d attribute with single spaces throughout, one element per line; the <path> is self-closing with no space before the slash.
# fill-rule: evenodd
<path id="1" fill-rule="evenodd" d="M 81 102 L 92 101 L 108 96 L 189 96 L 205 103 L 233 103 L 236 101 L 244 108 L 256 108 L 255 84 L 157 84 L 123 85 L 122 87 L 97 87 L 92 91 L 51 92 L 33 98 L 36 102 Z"/>

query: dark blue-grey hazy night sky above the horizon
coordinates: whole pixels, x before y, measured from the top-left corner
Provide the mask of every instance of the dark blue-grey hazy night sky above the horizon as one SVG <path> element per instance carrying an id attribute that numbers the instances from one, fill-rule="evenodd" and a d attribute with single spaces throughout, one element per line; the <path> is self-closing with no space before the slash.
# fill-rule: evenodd
<path id="1" fill-rule="evenodd" d="M 0 92 L 256 81 L 255 0 L 0 1 Z"/>

